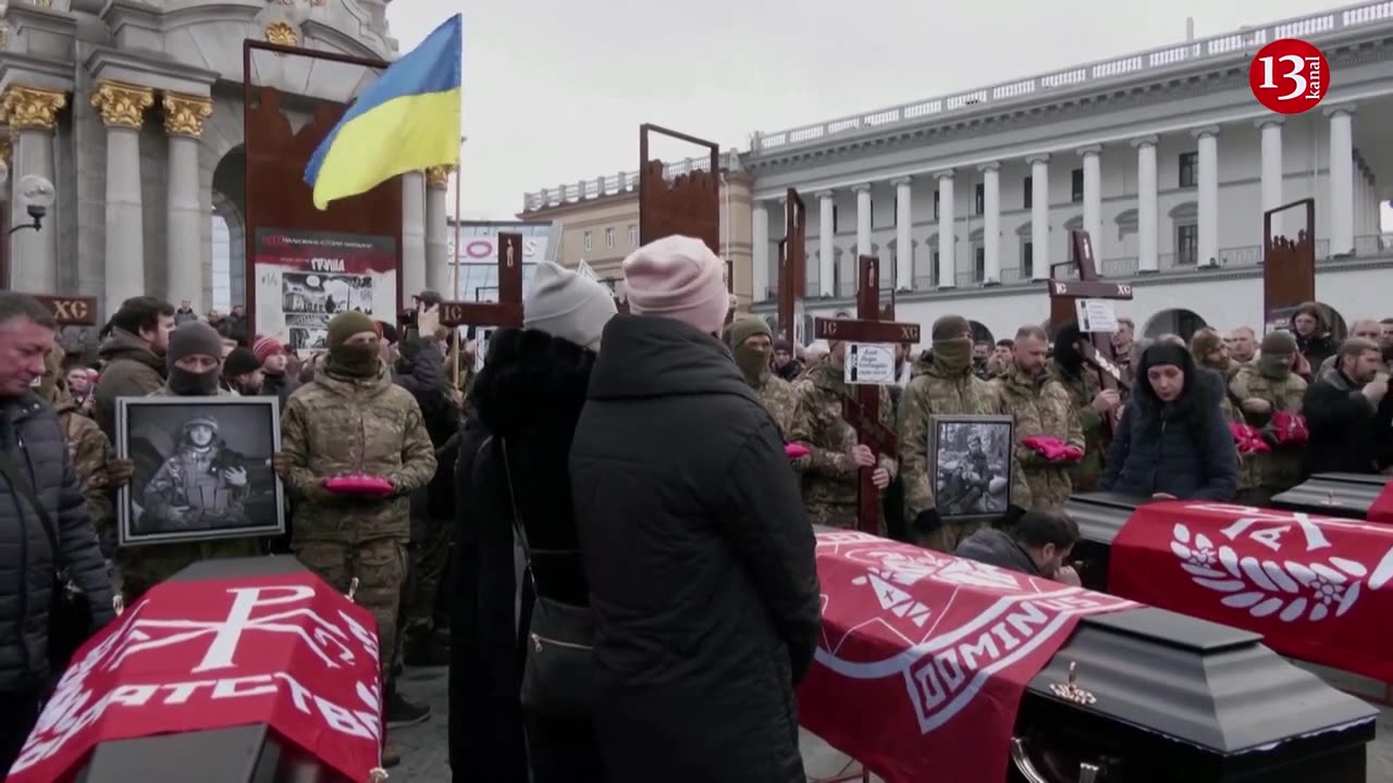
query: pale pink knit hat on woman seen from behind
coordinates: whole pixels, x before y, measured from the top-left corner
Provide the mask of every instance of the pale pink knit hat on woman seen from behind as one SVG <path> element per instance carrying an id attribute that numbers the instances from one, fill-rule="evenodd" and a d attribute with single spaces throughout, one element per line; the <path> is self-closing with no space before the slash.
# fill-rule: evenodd
<path id="1" fill-rule="evenodd" d="M 720 334 L 730 309 L 726 263 L 706 242 L 671 235 L 648 242 L 624 259 L 630 312 L 660 315 Z"/>

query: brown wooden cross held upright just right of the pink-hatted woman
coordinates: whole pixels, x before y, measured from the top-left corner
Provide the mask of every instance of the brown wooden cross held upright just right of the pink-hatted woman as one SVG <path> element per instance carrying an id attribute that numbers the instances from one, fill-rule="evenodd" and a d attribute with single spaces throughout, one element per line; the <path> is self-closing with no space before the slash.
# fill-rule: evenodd
<path id="1" fill-rule="evenodd" d="M 918 343 L 918 323 L 880 320 L 880 259 L 864 255 L 858 259 L 857 318 L 818 318 L 812 322 L 818 340 L 850 343 Z M 872 451 L 896 456 L 894 432 L 880 424 L 880 387 L 857 385 L 857 397 L 846 398 L 841 417 L 855 428 L 857 440 Z M 861 468 L 861 490 L 857 497 L 857 525 L 862 532 L 876 534 L 880 528 L 880 492 L 871 475 L 875 467 Z"/>

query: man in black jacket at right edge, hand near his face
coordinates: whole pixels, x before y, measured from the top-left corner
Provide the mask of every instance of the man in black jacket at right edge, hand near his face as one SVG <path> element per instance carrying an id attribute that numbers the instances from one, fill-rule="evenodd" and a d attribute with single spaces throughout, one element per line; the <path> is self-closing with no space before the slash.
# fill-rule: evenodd
<path id="1" fill-rule="evenodd" d="M 1358 337 L 1340 346 L 1336 365 L 1307 389 L 1301 403 L 1311 439 L 1308 474 L 1372 474 L 1387 467 L 1393 400 L 1376 343 Z"/>

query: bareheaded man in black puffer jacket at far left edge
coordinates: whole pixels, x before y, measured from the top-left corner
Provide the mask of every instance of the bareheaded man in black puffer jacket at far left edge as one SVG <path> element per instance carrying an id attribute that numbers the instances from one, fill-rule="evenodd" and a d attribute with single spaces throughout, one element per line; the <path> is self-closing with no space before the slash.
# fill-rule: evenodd
<path id="1" fill-rule="evenodd" d="M 53 408 L 32 385 L 53 350 L 53 315 L 0 293 L 0 773 L 39 718 L 49 681 L 54 566 L 86 595 L 96 627 L 110 621 L 111 580 Z M 35 502 L 40 507 L 35 507 Z M 45 517 L 53 529 L 46 529 Z M 52 536 L 61 550 L 54 557 Z M 0 775 L 3 776 L 3 775 Z"/>

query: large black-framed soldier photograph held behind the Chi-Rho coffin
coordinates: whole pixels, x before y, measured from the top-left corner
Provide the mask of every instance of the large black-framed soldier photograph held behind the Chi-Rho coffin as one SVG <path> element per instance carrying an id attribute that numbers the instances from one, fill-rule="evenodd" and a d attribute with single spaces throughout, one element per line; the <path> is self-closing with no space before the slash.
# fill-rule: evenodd
<path id="1" fill-rule="evenodd" d="M 135 463 L 117 497 L 121 546 L 286 532 L 274 397 L 121 397 L 116 453 Z"/>

